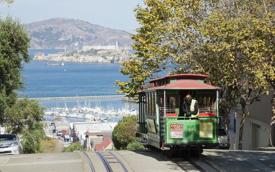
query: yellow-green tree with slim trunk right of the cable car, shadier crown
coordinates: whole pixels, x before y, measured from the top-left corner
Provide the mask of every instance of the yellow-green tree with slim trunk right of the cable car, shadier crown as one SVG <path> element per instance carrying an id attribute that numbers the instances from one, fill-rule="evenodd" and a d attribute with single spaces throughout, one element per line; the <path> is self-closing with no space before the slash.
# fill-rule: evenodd
<path id="1" fill-rule="evenodd" d="M 214 83 L 220 85 L 220 76 L 224 76 L 222 80 L 226 83 L 223 86 L 226 86 L 227 90 L 230 87 L 235 92 L 235 103 L 241 105 L 243 112 L 239 149 L 242 149 L 247 107 L 254 101 L 259 101 L 263 95 L 258 76 L 250 70 L 250 66 L 254 64 L 253 59 L 259 56 L 258 47 L 261 46 L 251 29 L 253 16 L 247 12 L 250 10 L 253 10 L 251 0 L 219 0 L 215 3 L 201 30 L 204 35 L 204 41 L 201 42 L 203 56 L 196 60 L 204 70 L 212 73 Z"/>

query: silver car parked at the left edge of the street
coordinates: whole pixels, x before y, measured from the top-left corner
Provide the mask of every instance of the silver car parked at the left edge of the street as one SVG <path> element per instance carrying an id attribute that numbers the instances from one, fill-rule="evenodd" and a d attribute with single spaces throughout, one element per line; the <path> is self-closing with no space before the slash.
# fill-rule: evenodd
<path id="1" fill-rule="evenodd" d="M 16 134 L 0 134 L 0 155 L 23 154 L 22 141 Z"/>

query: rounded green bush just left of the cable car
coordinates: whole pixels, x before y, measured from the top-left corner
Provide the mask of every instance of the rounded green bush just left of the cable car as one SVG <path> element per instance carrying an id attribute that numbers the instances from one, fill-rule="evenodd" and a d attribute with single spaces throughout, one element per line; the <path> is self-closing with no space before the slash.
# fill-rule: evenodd
<path id="1" fill-rule="evenodd" d="M 138 140 L 136 134 L 136 116 L 124 116 L 112 132 L 112 140 L 116 149 L 126 149 L 128 143 Z"/>

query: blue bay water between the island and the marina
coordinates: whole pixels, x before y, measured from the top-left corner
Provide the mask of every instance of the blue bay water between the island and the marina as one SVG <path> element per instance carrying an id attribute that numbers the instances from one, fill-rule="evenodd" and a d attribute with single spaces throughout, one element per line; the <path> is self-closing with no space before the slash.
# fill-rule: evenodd
<path id="1" fill-rule="evenodd" d="M 35 52 L 43 52 L 45 56 L 63 50 L 29 50 L 33 57 Z M 23 75 L 26 88 L 18 90 L 20 97 L 70 97 L 70 96 L 99 96 L 119 95 L 116 90 L 115 81 L 126 81 L 119 68 L 120 63 L 76 63 L 64 62 L 63 66 L 49 66 L 47 61 L 35 61 L 24 64 Z M 61 62 L 60 62 L 61 63 Z M 40 101 L 41 106 L 47 109 L 56 107 L 95 107 L 99 105 L 104 109 L 119 110 L 125 107 L 121 99 L 91 99 L 91 100 L 54 100 Z M 135 103 L 127 103 L 130 109 L 137 109 Z M 47 116 L 46 116 L 47 117 Z M 51 120 L 48 116 L 48 120 Z M 83 119 L 70 119 L 71 122 Z"/>

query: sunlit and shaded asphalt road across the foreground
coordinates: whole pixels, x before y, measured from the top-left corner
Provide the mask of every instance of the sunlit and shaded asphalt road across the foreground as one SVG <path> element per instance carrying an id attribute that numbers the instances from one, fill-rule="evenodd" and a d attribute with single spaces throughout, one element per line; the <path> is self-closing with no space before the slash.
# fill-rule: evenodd
<path id="1" fill-rule="evenodd" d="M 64 152 L 1 155 L 0 172 L 105 172 L 95 152 Z M 118 161 L 102 152 L 114 172 L 122 172 Z M 275 172 L 275 151 L 233 151 L 205 149 L 201 158 L 167 158 L 154 151 L 112 151 L 128 172 Z M 108 155 L 106 155 L 108 154 Z M 91 162 L 89 162 L 89 159 Z M 213 170 L 214 168 L 216 170 Z"/>

